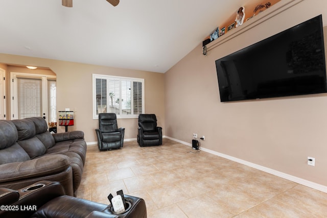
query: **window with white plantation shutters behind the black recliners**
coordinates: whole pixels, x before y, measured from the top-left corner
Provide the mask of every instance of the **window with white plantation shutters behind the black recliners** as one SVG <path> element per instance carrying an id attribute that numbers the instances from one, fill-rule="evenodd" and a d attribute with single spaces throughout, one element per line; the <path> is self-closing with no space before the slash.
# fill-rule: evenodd
<path id="1" fill-rule="evenodd" d="M 94 115 L 115 113 L 118 118 L 137 118 L 144 113 L 144 79 L 93 75 Z"/>

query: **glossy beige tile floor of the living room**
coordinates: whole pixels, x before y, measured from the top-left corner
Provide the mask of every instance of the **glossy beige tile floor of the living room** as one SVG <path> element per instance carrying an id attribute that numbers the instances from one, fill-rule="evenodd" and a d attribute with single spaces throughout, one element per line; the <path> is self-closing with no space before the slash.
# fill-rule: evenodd
<path id="1" fill-rule="evenodd" d="M 327 217 L 327 193 L 164 138 L 162 146 L 88 146 L 77 197 L 143 198 L 149 218 Z"/>

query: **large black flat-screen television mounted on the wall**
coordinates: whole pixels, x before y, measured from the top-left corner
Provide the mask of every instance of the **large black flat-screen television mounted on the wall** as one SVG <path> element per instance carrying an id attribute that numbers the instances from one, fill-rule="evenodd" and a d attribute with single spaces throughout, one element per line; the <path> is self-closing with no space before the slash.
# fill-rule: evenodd
<path id="1" fill-rule="evenodd" d="M 216 60 L 220 101 L 326 92 L 322 16 Z"/>

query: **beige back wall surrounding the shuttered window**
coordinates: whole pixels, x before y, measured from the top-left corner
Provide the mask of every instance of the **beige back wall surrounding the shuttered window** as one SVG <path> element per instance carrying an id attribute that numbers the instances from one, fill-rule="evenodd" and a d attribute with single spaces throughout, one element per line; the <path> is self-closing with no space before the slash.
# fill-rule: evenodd
<path id="1" fill-rule="evenodd" d="M 69 108 L 75 111 L 74 126 L 68 127 L 68 131 L 84 131 L 87 142 L 97 141 L 95 129 L 98 128 L 98 119 L 92 119 L 92 74 L 143 78 L 145 113 L 155 113 L 158 125 L 165 133 L 164 74 L 7 54 L 0 54 L 0 62 L 49 67 L 57 75 L 57 110 Z M 4 64 L 0 66 L 6 67 Z M 7 74 L 19 69 L 26 70 L 25 67 L 8 67 Z M 125 127 L 125 139 L 136 138 L 137 118 L 118 119 L 118 126 Z M 58 127 L 58 132 L 64 132 L 64 127 Z"/>

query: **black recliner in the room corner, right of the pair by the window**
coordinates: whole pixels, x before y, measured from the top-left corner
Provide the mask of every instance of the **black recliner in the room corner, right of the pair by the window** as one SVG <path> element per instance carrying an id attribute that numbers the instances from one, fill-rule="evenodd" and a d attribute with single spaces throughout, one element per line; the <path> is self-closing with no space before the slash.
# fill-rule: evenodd
<path id="1" fill-rule="evenodd" d="M 138 115 L 137 143 L 141 147 L 162 144 L 162 128 L 157 127 L 155 114 Z"/>

